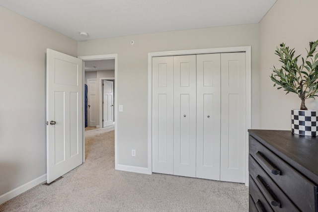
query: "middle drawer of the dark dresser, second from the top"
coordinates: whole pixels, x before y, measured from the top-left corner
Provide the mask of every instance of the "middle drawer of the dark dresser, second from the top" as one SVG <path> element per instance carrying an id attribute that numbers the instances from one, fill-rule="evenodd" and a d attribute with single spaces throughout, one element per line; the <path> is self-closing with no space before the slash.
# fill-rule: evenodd
<path id="1" fill-rule="evenodd" d="M 300 212 L 251 155 L 248 157 L 248 167 L 250 176 L 275 212 Z"/>

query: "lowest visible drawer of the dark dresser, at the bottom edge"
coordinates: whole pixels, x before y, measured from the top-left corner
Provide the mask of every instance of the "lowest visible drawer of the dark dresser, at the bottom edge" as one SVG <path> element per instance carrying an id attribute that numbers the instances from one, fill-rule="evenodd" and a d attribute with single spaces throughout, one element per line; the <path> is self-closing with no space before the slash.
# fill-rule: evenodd
<path id="1" fill-rule="evenodd" d="M 256 208 L 256 212 L 273 212 L 272 208 L 270 207 L 270 205 L 267 203 L 267 201 L 265 200 L 265 197 L 262 195 L 262 193 L 260 192 L 260 190 L 258 189 L 258 187 L 256 186 L 254 180 L 251 178 L 251 176 L 249 175 L 249 195 L 252 203 L 254 205 L 252 205 L 252 207 L 249 208 L 249 212 L 253 212 L 255 211 Z M 251 204 L 251 202 L 249 202 Z"/>

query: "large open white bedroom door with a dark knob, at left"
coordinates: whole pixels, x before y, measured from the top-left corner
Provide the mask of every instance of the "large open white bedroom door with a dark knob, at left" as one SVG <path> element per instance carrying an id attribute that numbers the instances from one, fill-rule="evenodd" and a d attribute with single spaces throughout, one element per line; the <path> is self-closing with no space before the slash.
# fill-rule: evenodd
<path id="1" fill-rule="evenodd" d="M 82 61 L 47 49 L 47 183 L 82 163 Z"/>

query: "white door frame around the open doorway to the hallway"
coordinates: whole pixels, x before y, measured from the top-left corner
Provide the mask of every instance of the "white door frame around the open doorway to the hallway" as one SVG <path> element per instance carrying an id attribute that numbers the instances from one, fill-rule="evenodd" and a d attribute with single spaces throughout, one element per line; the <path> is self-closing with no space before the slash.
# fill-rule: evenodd
<path id="1" fill-rule="evenodd" d="M 110 60 L 110 59 L 114 59 L 115 60 L 115 94 L 114 94 L 114 98 L 115 98 L 115 102 L 114 102 L 114 108 L 115 108 L 115 169 L 117 169 L 117 163 L 118 163 L 118 159 L 117 159 L 117 150 L 118 150 L 118 145 L 117 145 L 117 126 L 118 126 L 118 116 L 117 116 L 117 99 L 118 99 L 118 92 L 117 92 L 117 54 L 109 54 L 109 55 L 92 55 L 92 56 L 79 56 L 78 58 L 83 60 L 83 61 L 94 61 L 94 60 Z M 84 74 L 84 71 L 83 71 Z M 84 84 L 84 77 L 83 77 L 83 84 Z M 84 89 L 84 86 L 83 86 Z M 84 104 L 84 101 L 83 101 Z M 83 106 L 83 117 L 85 117 L 85 111 L 84 111 L 84 106 Z M 85 122 L 83 122 L 83 128 L 85 128 Z M 85 130 L 83 130 L 83 161 L 85 160 Z"/>

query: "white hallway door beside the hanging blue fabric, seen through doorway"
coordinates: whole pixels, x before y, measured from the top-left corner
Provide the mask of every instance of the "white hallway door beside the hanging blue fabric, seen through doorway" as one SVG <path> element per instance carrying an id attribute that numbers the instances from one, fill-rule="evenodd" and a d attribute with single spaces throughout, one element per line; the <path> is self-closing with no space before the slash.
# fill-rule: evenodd
<path id="1" fill-rule="evenodd" d="M 88 126 L 96 127 L 98 123 L 97 79 L 87 79 Z"/>

